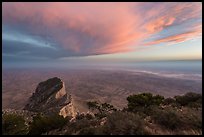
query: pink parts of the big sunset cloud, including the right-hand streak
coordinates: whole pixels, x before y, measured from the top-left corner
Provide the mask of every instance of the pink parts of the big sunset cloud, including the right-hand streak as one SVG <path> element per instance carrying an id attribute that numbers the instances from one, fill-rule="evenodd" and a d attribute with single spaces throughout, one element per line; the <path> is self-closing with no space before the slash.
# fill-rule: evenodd
<path id="1" fill-rule="evenodd" d="M 4 2 L 3 24 L 25 26 L 29 33 L 47 35 L 64 50 L 79 55 L 106 54 L 133 50 L 168 27 L 199 18 L 202 11 L 201 3 L 160 3 L 141 10 L 148 4 L 152 3 Z M 182 28 L 178 34 L 148 45 L 185 41 L 190 35 L 184 35 L 185 31 Z"/>

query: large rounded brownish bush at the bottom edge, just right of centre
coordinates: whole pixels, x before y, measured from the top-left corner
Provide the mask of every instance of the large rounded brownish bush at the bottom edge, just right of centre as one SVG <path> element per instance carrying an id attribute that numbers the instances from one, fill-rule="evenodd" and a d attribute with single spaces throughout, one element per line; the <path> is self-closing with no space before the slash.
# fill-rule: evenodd
<path id="1" fill-rule="evenodd" d="M 108 135 L 144 135 L 144 121 L 139 115 L 130 112 L 113 112 L 107 116 L 104 134 Z"/>

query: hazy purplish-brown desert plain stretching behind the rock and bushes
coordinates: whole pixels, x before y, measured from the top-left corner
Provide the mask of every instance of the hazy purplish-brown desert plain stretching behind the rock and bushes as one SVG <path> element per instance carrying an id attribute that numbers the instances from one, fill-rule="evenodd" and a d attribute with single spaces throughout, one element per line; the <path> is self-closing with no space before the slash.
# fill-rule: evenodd
<path id="1" fill-rule="evenodd" d="M 202 77 L 192 75 L 185 78 L 117 69 L 8 69 L 2 77 L 3 108 L 22 109 L 39 81 L 55 76 L 63 79 L 79 111 L 87 111 L 86 102 L 90 100 L 123 108 L 127 96 L 142 92 L 165 97 L 202 93 Z"/>

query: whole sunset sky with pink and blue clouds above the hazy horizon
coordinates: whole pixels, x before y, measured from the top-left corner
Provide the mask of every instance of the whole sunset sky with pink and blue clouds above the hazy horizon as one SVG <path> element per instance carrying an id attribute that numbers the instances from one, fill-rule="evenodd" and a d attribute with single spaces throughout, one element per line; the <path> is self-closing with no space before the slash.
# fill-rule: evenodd
<path id="1" fill-rule="evenodd" d="M 201 2 L 3 2 L 6 66 L 202 59 Z"/>

